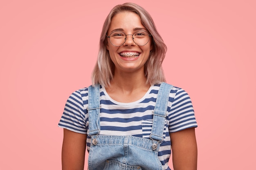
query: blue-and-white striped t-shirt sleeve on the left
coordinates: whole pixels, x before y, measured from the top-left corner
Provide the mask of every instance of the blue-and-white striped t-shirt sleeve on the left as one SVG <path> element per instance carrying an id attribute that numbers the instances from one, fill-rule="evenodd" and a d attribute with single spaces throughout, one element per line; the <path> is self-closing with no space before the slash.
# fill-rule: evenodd
<path id="1" fill-rule="evenodd" d="M 61 116 L 61 120 L 59 121 L 58 126 L 73 132 L 86 134 L 87 128 L 85 115 L 86 110 L 84 108 L 81 93 L 80 91 L 75 91 L 67 99 L 64 112 Z"/>

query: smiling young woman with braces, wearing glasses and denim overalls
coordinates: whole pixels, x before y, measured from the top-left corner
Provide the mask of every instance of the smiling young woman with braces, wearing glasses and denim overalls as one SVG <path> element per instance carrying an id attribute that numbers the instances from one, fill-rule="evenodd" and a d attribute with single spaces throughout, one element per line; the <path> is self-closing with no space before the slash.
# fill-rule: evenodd
<path id="1" fill-rule="evenodd" d="M 193 106 L 164 83 L 166 45 L 145 9 L 114 7 L 101 32 L 92 86 L 72 93 L 64 128 L 63 170 L 196 170 Z M 171 64 L 171 63 L 170 63 Z"/>

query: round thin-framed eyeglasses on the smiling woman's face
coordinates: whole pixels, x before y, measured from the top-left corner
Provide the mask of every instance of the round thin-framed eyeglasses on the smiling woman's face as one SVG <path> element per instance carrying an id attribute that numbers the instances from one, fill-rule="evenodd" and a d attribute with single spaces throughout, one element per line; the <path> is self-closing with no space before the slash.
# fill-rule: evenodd
<path id="1" fill-rule="evenodd" d="M 110 43 L 113 46 L 121 46 L 126 42 L 126 36 L 132 35 L 132 40 L 137 44 L 138 46 L 144 46 L 149 41 L 149 35 L 147 31 L 137 31 L 133 34 L 125 34 L 120 31 L 114 31 L 110 33 L 110 35 L 106 35 L 109 38 Z"/>

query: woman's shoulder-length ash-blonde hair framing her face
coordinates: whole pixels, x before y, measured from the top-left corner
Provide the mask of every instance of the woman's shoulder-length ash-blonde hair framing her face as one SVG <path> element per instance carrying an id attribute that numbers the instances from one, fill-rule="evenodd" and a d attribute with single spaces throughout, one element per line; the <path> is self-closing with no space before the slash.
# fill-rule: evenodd
<path id="1" fill-rule="evenodd" d="M 153 49 L 150 51 L 149 58 L 144 65 L 144 73 L 147 78 L 146 84 L 159 84 L 165 82 L 162 62 L 164 60 L 167 47 L 164 44 L 162 37 L 157 32 L 153 19 L 150 14 L 142 7 L 134 3 L 124 3 L 115 6 L 108 14 L 101 31 L 99 53 L 97 63 L 92 72 L 92 85 L 101 84 L 109 86 L 114 77 L 115 65 L 110 59 L 108 50 L 106 49 L 108 40 L 106 33 L 109 29 L 113 16 L 118 13 L 130 11 L 137 13 L 141 19 L 141 24 L 149 31 L 153 37 L 151 41 Z"/>

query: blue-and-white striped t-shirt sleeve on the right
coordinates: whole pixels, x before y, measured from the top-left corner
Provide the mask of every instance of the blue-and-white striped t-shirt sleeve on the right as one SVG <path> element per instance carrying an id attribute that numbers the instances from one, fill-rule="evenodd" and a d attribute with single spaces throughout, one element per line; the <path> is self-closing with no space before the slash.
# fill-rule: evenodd
<path id="1" fill-rule="evenodd" d="M 169 96 L 171 107 L 168 107 L 169 132 L 197 127 L 191 99 L 182 88 L 173 88 Z"/>

